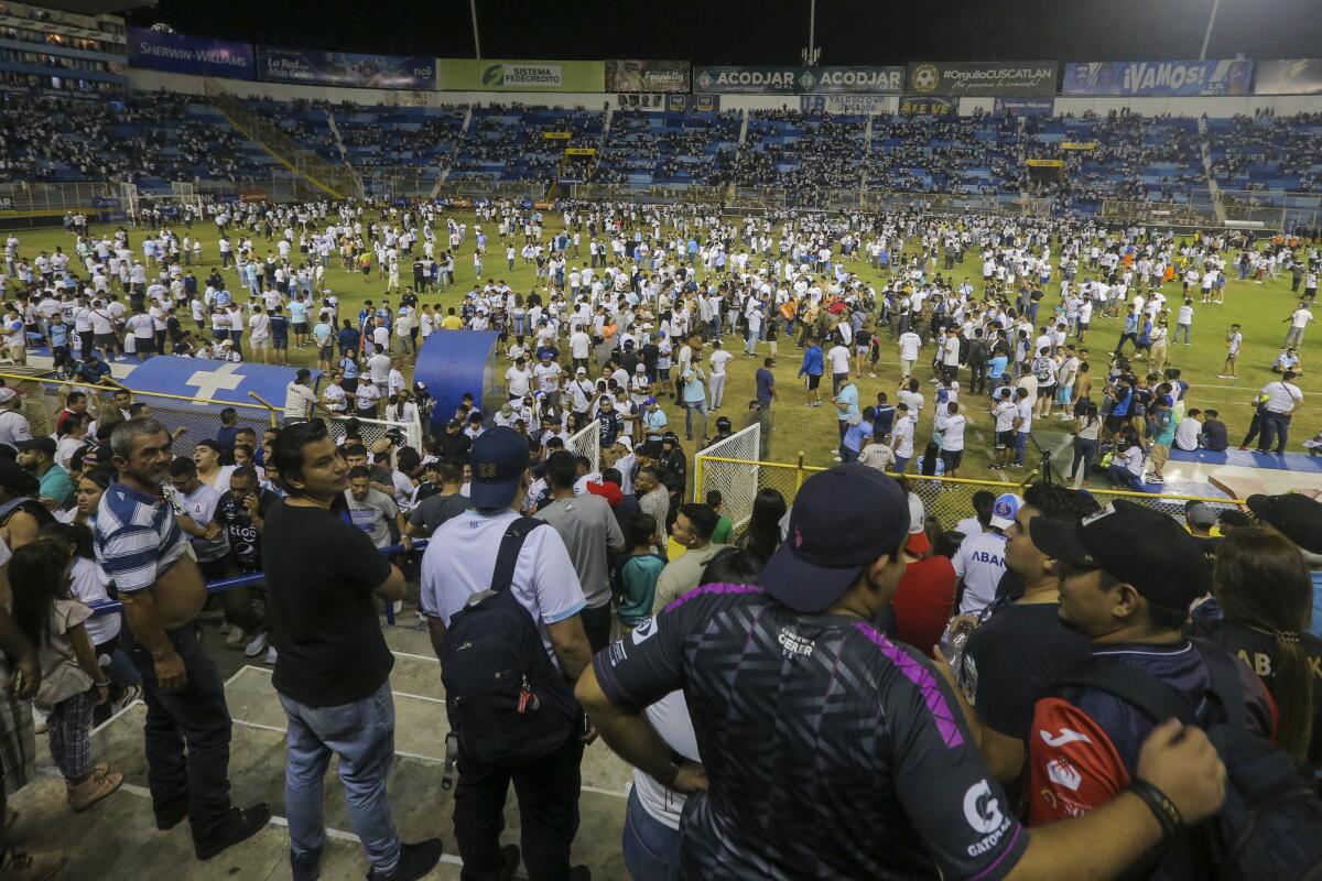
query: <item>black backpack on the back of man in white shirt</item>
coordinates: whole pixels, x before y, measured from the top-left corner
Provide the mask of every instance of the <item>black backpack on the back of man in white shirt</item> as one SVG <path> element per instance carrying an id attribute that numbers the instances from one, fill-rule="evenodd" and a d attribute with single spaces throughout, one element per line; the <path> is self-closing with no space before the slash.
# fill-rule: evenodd
<path id="1" fill-rule="evenodd" d="M 509 524 L 489 590 L 475 593 L 446 633 L 440 679 L 452 736 L 465 761 L 508 767 L 554 753 L 583 711 L 551 663 L 542 634 L 509 586 L 524 539 L 543 520 Z"/>

